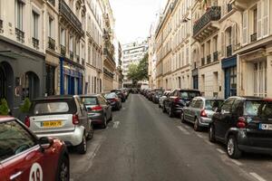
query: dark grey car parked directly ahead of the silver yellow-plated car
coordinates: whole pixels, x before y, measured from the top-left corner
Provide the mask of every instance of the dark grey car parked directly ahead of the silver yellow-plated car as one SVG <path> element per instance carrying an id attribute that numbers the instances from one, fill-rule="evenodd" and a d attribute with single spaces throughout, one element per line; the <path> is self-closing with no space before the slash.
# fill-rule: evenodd
<path id="1" fill-rule="evenodd" d="M 105 100 L 101 94 L 81 95 L 83 103 L 88 110 L 88 117 L 92 120 L 92 125 L 107 128 L 108 121 L 112 120 L 111 102 Z"/>

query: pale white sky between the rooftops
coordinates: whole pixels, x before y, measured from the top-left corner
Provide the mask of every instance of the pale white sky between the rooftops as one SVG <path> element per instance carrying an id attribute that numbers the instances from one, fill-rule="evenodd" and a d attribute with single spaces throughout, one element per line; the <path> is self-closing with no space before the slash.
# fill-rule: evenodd
<path id="1" fill-rule="evenodd" d="M 115 18 L 118 40 L 131 43 L 149 36 L 152 22 L 156 20 L 166 0 L 110 0 Z"/>

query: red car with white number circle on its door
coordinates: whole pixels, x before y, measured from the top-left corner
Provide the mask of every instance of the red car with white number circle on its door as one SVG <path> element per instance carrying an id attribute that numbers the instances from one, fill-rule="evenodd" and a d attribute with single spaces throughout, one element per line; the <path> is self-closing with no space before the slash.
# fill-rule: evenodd
<path id="1" fill-rule="evenodd" d="M 69 175 L 63 141 L 37 138 L 21 121 L 0 116 L 1 181 L 69 181 Z"/>

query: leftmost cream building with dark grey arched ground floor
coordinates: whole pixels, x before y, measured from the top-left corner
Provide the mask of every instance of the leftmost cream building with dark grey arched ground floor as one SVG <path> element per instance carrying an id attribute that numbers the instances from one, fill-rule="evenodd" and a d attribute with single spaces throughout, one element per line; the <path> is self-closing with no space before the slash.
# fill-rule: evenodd
<path id="1" fill-rule="evenodd" d="M 12 113 L 45 93 L 44 2 L 0 1 L 0 98 Z"/>

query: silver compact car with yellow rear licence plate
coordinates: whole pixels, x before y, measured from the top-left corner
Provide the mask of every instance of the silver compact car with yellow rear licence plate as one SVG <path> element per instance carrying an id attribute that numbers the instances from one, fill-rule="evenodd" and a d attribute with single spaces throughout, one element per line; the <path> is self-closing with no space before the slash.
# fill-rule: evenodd
<path id="1" fill-rule="evenodd" d="M 53 96 L 34 100 L 25 125 L 38 138 L 62 139 L 67 146 L 75 146 L 86 153 L 86 139 L 92 138 L 91 119 L 79 96 Z"/>

